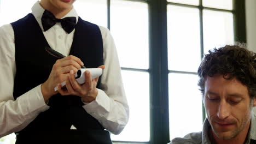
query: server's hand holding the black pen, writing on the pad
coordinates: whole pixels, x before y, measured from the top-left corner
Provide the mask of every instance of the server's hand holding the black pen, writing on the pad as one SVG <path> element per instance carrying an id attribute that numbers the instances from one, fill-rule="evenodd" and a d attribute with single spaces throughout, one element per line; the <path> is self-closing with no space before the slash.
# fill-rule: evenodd
<path id="1" fill-rule="evenodd" d="M 54 92 L 54 87 L 67 79 L 69 72 L 72 70 L 77 73 L 78 69 L 81 68 L 80 65 L 84 65 L 83 62 L 75 56 L 67 56 L 62 59 L 58 59 L 53 65 L 50 76 L 41 85 L 41 91 L 45 101 L 48 101 L 51 96 L 57 94 Z"/>

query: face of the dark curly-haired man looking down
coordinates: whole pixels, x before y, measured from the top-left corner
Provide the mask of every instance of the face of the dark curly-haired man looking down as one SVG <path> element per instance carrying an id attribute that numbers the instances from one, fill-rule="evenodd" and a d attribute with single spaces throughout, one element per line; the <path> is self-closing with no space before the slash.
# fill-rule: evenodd
<path id="1" fill-rule="evenodd" d="M 203 103 L 212 130 L 219 139 L 232 139 L 248 127 L 251 99 L 247 87 L 237 79 L 226 80 L 223 75 L 208 76 Z"/>

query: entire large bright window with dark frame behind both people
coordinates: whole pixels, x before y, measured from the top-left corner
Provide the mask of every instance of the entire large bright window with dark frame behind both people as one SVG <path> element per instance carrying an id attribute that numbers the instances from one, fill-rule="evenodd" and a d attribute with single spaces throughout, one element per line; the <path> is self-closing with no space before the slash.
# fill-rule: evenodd
<path id="1" fill-rule="evenodd" d="M 34 2 L 0 0 L 0 26 L 30 13 Z M 114 143 L 167 143 L 201 131 L 197 68 L 209 49 L 246 42 L 244 1 L 81 0 L 74 7 L 82 19 L 108 27 L 117 46 L 130 120 L 111 135 Z M 14 142 L 14 134 L 0 139 Z"/>

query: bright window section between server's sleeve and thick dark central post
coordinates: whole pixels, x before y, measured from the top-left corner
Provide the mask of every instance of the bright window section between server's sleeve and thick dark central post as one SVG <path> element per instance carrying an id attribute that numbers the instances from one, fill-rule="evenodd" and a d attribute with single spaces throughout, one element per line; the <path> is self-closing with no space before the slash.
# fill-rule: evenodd
<path id="1" fill-rule="evenodd" d="M 148 4 L 110 1 L 110 31 L 122 68 L 129 123 L 115 141 L 149 141 Z M 136 129 L 136 130 L 135 130 Z"/>

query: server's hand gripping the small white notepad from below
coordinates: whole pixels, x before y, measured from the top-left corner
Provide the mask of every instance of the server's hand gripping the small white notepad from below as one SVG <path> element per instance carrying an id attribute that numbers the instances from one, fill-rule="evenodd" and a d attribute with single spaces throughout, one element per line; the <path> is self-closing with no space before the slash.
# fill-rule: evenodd
<path id="1" fill-rule="evenodd" d="M 104 65 L 100 67 L 102 70 L 105 68 Z M 95 79 L 91 79 L 91 74 L 89 70 L 85 71 L 85 83 L 83 85 L 79 85 L 79 83 L 75 80 L 74 73 L 76 71 L 71 70 L 66 79 L 66 89 L 62 89 L 59 83 L 58 91 L 61 95 L 77 95 L 82 98 L 85 103 L 90 103 L 95 100 L 98 95 L 98 89 L 96 88 L 98 77 Z"/>

